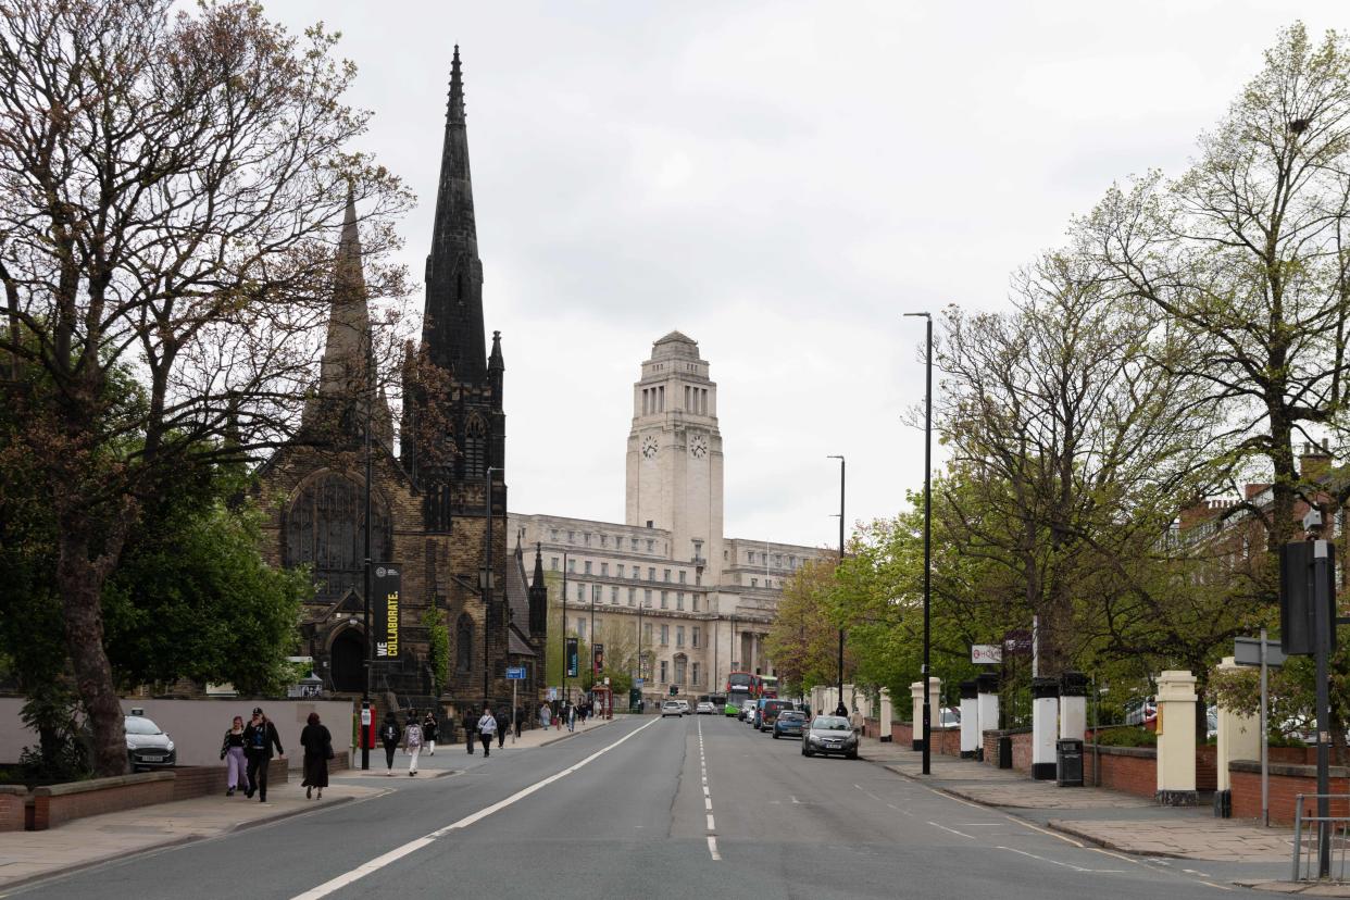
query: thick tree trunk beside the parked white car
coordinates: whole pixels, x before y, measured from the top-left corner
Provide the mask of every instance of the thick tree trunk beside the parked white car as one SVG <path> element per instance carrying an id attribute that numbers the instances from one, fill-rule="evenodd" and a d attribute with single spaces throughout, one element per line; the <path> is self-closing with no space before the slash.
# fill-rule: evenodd
<path id="1" fill-rule="evenodd" d="M 89 559 L 89 537 L 81 525 L 59 530 L 57 587 L 66 619 L 66 649 L 76 673 L 92 731 L 90 764 L 94 775 L 126 775 L 127 738 L 112 667 L 103 645 L 104 565 Z"/>

